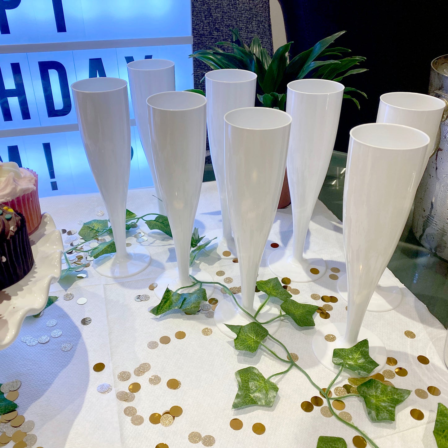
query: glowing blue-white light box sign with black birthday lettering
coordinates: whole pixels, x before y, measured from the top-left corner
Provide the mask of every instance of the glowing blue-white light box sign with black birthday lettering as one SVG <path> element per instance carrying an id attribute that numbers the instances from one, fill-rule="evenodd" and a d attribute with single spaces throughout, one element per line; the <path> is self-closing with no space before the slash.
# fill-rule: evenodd
<path id="1" fill-rule="evenodd" d="M 176 89 L 192 88 L 190 34 L 185 0 L 0 0 L 1 160 L 38 172 L 42 197 L 97 191 L 70 85 L 128 81 L 129 61 L 162 58 L 175 63 Z M 134 124 L 130 93 L 129 108 Z M 151 186 L 135 126 L 131 135 L 129 188 Z"/>

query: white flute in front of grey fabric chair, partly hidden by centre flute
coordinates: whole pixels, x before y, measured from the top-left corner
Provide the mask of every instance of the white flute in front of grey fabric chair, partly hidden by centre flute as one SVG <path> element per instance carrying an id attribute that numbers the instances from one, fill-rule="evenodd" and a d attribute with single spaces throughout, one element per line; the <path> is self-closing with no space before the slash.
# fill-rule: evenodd
<path id="1" fill-rule="evenodd" d="M 225 188 L 224 115 L 233 109 L 253 107 L 256 87 L 257 75 L 248 70 L 220 69 L 205 74 L 208 143 L 222 217 L 222 229 L 207 232 L 208 239 L 216 237 L 207 250 L 219 258 L 236 257 Z"/>

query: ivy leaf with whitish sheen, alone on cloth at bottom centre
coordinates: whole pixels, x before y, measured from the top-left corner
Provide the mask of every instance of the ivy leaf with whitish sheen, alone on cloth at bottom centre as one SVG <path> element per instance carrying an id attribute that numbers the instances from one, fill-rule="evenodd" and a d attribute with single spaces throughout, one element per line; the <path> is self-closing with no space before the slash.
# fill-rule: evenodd
<path id="1" fill-rule="evenodd" d="M 256 367 L 237 370 L 235 376 L 238 392 L 233 401 L 233 409 L 252 405 L 271 407 L 274 404 L 279 388 L 276 383 L 266 379 Z"/>

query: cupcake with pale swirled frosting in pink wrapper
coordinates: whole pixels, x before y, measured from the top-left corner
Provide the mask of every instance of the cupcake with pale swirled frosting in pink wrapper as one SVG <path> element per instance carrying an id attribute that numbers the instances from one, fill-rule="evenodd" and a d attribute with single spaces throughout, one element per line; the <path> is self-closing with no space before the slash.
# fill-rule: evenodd
<path id="1" fill-rule="evenodd" d="M 42 218 L 37 174 L 15 162 L 0 163 L 0 202 L 22 213 L 28 233 L 33 233 Z"/>

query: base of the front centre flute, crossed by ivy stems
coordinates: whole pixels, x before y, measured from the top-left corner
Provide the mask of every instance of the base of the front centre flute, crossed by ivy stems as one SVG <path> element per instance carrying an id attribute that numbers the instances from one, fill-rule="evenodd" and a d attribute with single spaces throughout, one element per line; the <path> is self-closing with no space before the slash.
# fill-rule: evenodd
<path id="1" fill-rule="evenodd" d="M 235 298 L 241 305 L 241 294 L 235 294 Z M 261 301 L 258 296 L 254 297 L 254 311 L 252 314 L 255 313 L 255 310 L 258 309 L 263 301 Z M 264 306 L 263 310 L 257 315 L 257 320 L 259 322 L 266 322 L 279 314 L 280 310 L 268 302 Z M 215 314 L 213 317 L 218 330 L 231 339 L 235 339 L 237 335 L 225 326 L 226 323 L 229 325 L 247 325 L 250 322 L 254 322 L 253 319 L 238 308 L 233 300 L 233 297 L 229 295 L 225 295 L 225 297 L 220 299 L 215 308 Z M 264 327 L 269 331 L 269 333 L 274 334 L 280 327 L 280 319 L 276 319 L 273 322 L 264 325 Z"/>

